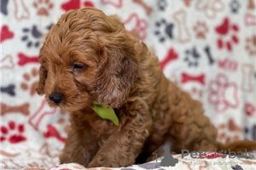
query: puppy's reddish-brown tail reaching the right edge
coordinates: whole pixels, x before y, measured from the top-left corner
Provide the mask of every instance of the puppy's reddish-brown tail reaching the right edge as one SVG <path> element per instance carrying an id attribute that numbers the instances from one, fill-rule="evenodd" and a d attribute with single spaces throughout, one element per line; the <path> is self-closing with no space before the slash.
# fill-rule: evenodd
<path id="1" fill-rule="evenodd" d="M 226 150 L 226 151 L 252 151 L 256 150 L 256 141 L 249 141 L 249 140 L 240 140 L 236 142 L 232 142 L 230 144 L 221 144 L 218 143 L 218 150 Z"/>

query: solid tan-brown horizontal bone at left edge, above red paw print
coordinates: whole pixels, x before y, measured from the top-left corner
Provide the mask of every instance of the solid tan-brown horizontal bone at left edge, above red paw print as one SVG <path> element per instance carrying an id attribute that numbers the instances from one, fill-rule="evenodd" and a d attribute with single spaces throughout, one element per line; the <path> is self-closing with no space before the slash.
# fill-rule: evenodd
<path id="1" fill-rule="evenodd" d="M 19 113 L 24 116 L 28 116 L 29 114 L 28 108 L 29 108 L 28 103 L 25 103 L 23 105 L 15 105 L 15 106 L 1 103 L 0 115 L 4 116 L 5 114 L 8 114 L 8 113 Z"/>

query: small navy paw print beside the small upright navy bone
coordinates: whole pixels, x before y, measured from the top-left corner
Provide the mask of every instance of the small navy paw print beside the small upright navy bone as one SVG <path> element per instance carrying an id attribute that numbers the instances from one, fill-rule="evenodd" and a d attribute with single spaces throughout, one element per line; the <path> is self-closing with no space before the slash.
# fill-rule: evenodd
<path id="1" fill-rule="evenodd" d="M 198 53 L 195 47 L 192 49 L 187 49 L 185 51 L 184 60 L 188 63 L 189 66 L 197 66 L 199 59 L 200 59 L 200 54 Z"/>

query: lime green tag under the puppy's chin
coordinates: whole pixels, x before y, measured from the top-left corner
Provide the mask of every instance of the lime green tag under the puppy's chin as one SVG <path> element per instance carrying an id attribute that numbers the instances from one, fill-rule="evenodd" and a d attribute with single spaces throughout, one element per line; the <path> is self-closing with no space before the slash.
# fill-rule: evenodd
<path id="1" fill-rule="evenodd" d="M 113 109 L 109 109 L 106 105 L 100 105 L 96 102 L 93 103 L 93 111 L 102 119 L 108 119 L 109 121 L 113 122 L 115 126 L 119 126 L 119 118 L 116 116 Z"/>

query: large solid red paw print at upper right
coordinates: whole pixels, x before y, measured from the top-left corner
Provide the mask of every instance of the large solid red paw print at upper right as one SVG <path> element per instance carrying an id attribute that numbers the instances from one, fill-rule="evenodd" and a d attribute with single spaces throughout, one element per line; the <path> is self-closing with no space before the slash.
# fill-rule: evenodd
<path id="1" fill-rule="evenodd" d="M 219 35 L 217 40 L 218 48 L 227 48 L 231 51 L 233 45 L 239 42 L 237 37 L 239 27 L 236 24 L 231 24 L 228 18 L 224 18 L 221 25 L 215 28 L 215 31 Z"/>

